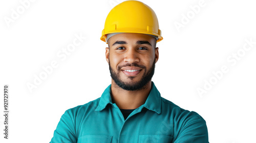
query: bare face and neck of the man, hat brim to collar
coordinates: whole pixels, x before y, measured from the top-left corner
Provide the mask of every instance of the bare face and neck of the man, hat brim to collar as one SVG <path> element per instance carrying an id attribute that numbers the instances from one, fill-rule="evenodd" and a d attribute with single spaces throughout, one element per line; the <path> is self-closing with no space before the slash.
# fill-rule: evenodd
<path id="1" fill-rule="evenodd" d="M 105 55 L 112 77 L 113 102 L 120 109 L 136 109 L 145 103 L 152 87 L 158 60 L 156 38 L 139 33 L 117 33 L 108 41 L 110 47 L 106 47 Z"/>

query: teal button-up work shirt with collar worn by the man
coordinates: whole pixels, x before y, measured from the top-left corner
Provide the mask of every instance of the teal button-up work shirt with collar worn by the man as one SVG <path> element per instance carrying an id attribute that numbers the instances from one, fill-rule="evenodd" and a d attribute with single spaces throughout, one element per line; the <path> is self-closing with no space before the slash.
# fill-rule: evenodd
<path id="1" fill-rule="evenodd" d="M 68 109 L 60 118 L 51 143 L 75 142 L 208 142 L 204 119 L 162 98 L 152 82 L 146 102 L 124 117 L 111 100 L 111 85 L 102 96 Z"/>

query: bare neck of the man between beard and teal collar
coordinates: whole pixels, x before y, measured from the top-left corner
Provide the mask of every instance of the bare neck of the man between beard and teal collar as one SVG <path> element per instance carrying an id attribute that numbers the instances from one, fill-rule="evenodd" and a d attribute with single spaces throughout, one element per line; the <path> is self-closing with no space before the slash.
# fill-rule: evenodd
<path id="1" fill-rule="evenodd" d="M 112 80 L 111 96 L 112 102 L 116 103 L 119 109 L 136 109 L 143 105 L 150 94 L 151 81 L 145 85 L 145 88 L 137 91 L 129 91 L 120 88 Z"/>

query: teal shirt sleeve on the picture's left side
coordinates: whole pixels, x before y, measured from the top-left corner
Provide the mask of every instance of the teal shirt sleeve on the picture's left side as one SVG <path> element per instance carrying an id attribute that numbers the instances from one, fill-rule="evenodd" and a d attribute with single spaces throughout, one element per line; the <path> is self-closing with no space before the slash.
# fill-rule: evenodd
<path id="1" fill-rule="evenodd" d="M 74 120 L 67 110 L 60 118 L 56 130 L 54 131 L 53 138 L 50 143 L 76 143 L 76 131 Z"/>

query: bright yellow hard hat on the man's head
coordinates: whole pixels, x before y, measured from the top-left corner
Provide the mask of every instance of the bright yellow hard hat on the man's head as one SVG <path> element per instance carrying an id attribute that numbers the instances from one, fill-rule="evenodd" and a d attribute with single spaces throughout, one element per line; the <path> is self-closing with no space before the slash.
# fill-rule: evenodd
<path id="1" fill-rule="evenodd" d="M 161 41 L 156 13 L 152 8 L 139 1 L 125 1 L 115 6 L 105 20 L 100 39 L 104 42 L 111 33 L 141 33 L 156 37 Z"/>

